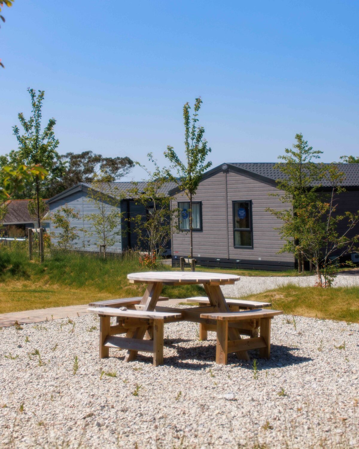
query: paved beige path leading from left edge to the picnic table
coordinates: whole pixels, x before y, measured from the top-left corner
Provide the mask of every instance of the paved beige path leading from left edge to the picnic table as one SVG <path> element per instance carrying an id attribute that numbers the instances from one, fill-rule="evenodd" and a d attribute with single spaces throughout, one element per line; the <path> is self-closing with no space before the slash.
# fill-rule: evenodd
<path id="1" fill-rule="evenodd" d="M 161 301 L 161 306 L 173 306 L 179 302 L 180 299 L 170 299 L 168 301 Z M 13 326 L 15 321 L 18 321 L 19 324 L 26 324 L 57 320 L 59 318 L 79 317 L 80 315 L 88 313 L 87 308 L 88 305 L 84 304 L 80 306 L 52 307 L 46 309 L 25 310 L 24 312 L 1 313 L 0 327 Z"/>

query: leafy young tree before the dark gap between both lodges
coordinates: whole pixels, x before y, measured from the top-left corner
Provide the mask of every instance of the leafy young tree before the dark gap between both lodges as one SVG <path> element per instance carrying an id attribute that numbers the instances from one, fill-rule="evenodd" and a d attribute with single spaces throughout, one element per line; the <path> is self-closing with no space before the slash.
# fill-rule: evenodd
<path id="1" fill-rule="evenodd" d="M 133 223 L 133 232 L 137 235 L 137 242 L 140 248 L 146 249 L 151 262 L 158 260 L 166 250 L 168 242 L 171 240 L 172 220 L 177 214 L 177 209 L 171 209 L 171 197 L 166 193 L 166 184 L 168 180 L 168 169 L 160 168 L 153 154 L 147 154 L 149 161 L 154 165 L 154 171 L 150 172 L 148 168 L 140 163 L 138 166 L 147 173 L 145 187 L 140 189 L 137 183 L 133 183 L 133 188 L 127 193 L 134 198 L 136 204 L 140 204 L 147 214 L 137 214 L 129 217 L 127 220 Z"/>

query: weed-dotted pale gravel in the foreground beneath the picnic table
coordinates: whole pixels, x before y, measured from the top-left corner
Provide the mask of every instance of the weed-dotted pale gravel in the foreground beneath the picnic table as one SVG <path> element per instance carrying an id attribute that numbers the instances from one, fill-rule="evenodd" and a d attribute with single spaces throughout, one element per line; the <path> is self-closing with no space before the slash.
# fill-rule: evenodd
<path id="1" fill-rule="evenodd" d="M 257 379 L 256 351 L 218 366 L 215 334 L 199 342 L 194 323 L 165 326 L 158 368 L 118 350 L 100 360 L 92 315 L 4 328 L 0 447 L 357 448 L 359 325 L 289 321 L 274 318 Z"/>

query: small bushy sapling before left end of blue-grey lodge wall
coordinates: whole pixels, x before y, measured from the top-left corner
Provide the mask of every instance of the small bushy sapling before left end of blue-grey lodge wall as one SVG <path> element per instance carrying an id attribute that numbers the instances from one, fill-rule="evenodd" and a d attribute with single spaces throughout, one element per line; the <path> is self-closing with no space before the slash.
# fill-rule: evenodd
<path id="1" fill-rule="evenodd" d="M 79 212 L 75 212 L 73 207 L 69 207 L 67 204 L 60 207 L 56 212 L 51 215 L 51 222 L 55 229 L 62 229 L 62 232 L 55 234 L 51 233 L 52 237 L 58 238 L 57 245 L 65 250 L 72 247 L 75 240 L 79 238 L 76 233 L 76 227 L 71 226 L 70 219 L 79 220 Z"/>

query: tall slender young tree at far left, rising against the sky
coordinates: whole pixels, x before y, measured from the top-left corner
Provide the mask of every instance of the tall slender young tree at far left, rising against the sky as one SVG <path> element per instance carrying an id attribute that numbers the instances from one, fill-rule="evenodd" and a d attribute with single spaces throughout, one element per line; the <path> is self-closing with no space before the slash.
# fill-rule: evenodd
<path id="1" fill-rule="evenodd" d="M 41 165 L 46 170 L 51 171 L 54 161 L 58 158 L 56 148 L 59 145 L 59 141 L 55 138 L 53 131 L 56 120 L 54 118 L 49 119 L 48 124 L 44 130 L 41 131 L 41 108 L 45 92 L 39 91 L 36 97 L 34 89 L 28 88 L 27 91 L 30 93 L 31 97 L 32 114 L 29 120 L 25 119 L 22 112 L 18 114 L 18 119 L 24 129 L 24 134 L 20 134 L 20 130 L 17 126 L 13 127 L 14 135 L 19 144 L 19 157 L 25 161 L 26 165 Z M 35 178 L 35 195 L 38 205 L 37 222 L 40 227 L 40 182 L 38 177 Z"/>

